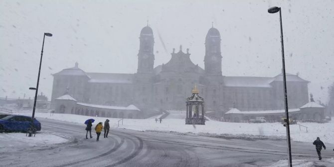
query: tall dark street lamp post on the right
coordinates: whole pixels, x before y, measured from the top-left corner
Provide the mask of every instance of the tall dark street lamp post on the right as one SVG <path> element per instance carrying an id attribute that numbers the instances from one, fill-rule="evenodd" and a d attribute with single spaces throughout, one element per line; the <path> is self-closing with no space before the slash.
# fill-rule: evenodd
<path id="1" fill-rule="evenodd" d="M 288 143 L 288 161 L 289 167 L 292 167 L 292 158 L 291 158 L 291 142 L 290 142 L 290 122 L 289 122 L 289 111 L 288 111 L 288 95 L 287 95 L 287 81 L 285 76 L 285 61 L 284 61 L 284 45 L 283 45 L 283 27 L 282 27 L 282 13 L 281 7 L 270 7 L 268 9 L 269 13 L 280 12 L 280 23 L 281 23 L 281 46 L 282 46 L 282 75 L 283 75 L 283 84 L 284 84 L 284 101 L 285 101 L 285 127 L 287 130 L 287 143 Z"/>

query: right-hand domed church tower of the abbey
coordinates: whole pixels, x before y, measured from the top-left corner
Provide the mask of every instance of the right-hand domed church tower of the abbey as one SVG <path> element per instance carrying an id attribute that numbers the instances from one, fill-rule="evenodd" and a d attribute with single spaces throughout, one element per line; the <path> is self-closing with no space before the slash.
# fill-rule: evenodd
<path id="1" fill-rule="evenodd" d="M 205 37 L 204 69 L 209 75 L 221 75 L 220 33 L 210 28 Z"/>

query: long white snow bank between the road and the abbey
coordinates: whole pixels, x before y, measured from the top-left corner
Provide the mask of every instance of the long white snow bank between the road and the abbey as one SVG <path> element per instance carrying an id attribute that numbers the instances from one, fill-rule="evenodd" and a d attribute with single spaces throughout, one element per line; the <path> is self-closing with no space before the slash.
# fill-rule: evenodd
<path id="1" fill-rule="evenodd" d="M 35 117 L 46 118 L 52 120 L 61 120 L 66 122 L 73 122 L 78 124 L 83 124 L 85 120 L 93 118 L 98 122 L 103 122 L 106 119 L 110 120 L 110 126 L 112 128 L 126 128 L 138 131 L 167 131 L 167 132 L 179 132 L 179 133 L 194 133 L 194 134 L 207 134 L 217 135 L 220 134 L 230 134 L 230 135 L 261 135 L 261 136 L 277 136 L 278 139 L 284 139 L 286 136 L 286 129 L 281 123 L 261 123 L 261 124 L 249 124 L 249 123 L 228 123 L 219 121 L 206 121 L 205 125 L 185 125 L 184 119 L 182 117 L 182 111 L 169 111 L 169 115 L 166 119 L 163 119 L 162 123 L 156 123 L 155 118 L 150 119 L 124 119 L 123 125 L 120 121 L 118 127 L 119 118 L 102 118 L 102 117 L 89 117 L 80 116 L 72 114 L 53 114 L 50 113 L 35 113 Z M 15 114 L 15 113 L 13 113 Z M 31 115 L 31 111 L 19 113 L 21 115 Z M 182 119 L 181 119 L 182 118 Z M 293 141 L 299 142 L 309 142 L 312 143 L 317 137 L 324 143 L 334 144 L 334 121 L 329 123 L 319 124 L 319 123 L 301 123 L 301 125 L 308 127 L 308 132 L 306 128 L 299 125 L 291 125 L 290 133 L 291 139 Z M 43 128 L 43 125 L 42 125 Z M 275 139 L 275 138 L 270 138 Z"/>

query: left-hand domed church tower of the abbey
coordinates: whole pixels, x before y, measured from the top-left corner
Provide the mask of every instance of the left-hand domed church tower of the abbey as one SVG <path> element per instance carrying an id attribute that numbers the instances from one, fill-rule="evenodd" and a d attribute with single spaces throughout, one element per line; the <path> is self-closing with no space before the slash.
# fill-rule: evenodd
<path id="1" fill-rule="evenodd" d="M 147 25 L 140 33 L 137 73 L 152 73 L 154 66 L 154 37 L 152 28 Z"/>

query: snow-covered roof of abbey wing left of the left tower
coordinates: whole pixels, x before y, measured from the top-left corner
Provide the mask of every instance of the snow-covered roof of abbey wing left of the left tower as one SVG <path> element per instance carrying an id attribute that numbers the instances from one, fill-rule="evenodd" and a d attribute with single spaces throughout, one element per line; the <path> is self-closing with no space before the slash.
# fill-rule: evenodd
<path id="1" fill-rule="evenodd" d="M 132 84 L 134 74 L 116 73 L 87 73 L 90 77 L 89 83 L 122 83 Z"/>

